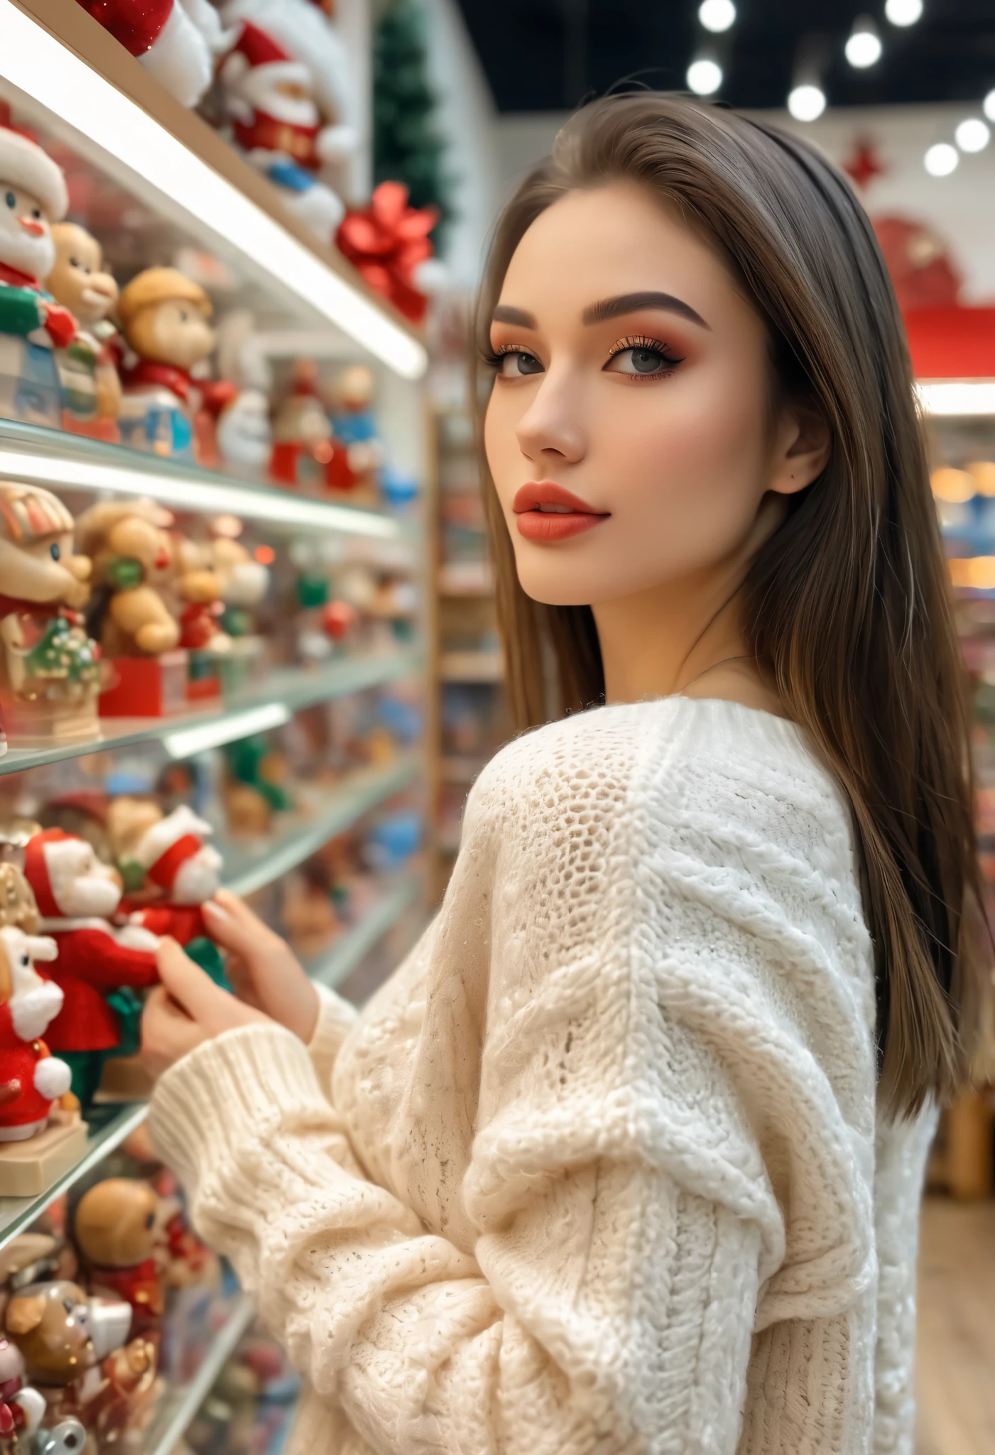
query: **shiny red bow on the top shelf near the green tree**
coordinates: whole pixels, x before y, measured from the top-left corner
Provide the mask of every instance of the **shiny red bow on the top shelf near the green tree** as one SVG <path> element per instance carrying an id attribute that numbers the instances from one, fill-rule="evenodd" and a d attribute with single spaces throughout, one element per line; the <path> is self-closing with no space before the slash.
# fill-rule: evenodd
<path id="1" fill-rule="evenodd" d="M 412 323 L 425 317 L 428 298 L 415 287 L 417 265 L 432 256 L 428 234 L 439 220 L 433 207 L 409 207 L 403 182 L 381 182 L 362 212 L 346 212 L 339 249 L 371 288 L 390 298 Z"/>

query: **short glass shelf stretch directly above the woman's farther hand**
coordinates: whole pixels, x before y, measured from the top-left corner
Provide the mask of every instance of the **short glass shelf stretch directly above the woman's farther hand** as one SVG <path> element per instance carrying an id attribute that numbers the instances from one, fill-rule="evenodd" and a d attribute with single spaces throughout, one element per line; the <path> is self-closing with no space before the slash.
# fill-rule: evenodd
<path id="1" fill-rule="evenodd" d="M 323 794 L 310 818 L 298 816 L 275 840 L 253 848 L 225 844 L 225 888 L 236 895 L 252 895 L 289 873 L 369 809 L 406 789 L 420 771 L 422 758 L 416 754 L 404 755 L 385 768 L 361 768 L 332 793 Z"/>

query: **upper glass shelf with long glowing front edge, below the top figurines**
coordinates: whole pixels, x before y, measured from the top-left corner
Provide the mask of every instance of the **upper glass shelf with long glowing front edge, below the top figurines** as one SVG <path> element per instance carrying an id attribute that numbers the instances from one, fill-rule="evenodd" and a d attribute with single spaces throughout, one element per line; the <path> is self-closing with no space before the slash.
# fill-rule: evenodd
<path id="1" fill-rule="evenodd" d="M 0 419 L 0 479 L 49 489 L 151 495 L 160 505 L 177 511 L 239 515 L 287 531 L 342 533 L 388 541 L 412 535 L 406 522 L 378 511 L 236 480 L 182 460 L 164 460 L 127 445 L 109 445 L 13 419 Z"/>

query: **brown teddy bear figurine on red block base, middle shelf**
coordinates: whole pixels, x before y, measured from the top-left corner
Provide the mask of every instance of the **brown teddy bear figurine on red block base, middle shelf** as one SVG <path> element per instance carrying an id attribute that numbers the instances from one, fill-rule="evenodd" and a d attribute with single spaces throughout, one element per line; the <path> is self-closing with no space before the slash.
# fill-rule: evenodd
<path id="1" fill-rule="evenodd" d="M 173 517 L 150 499 L 100 501 L 79 519 L 93 560 L 90 630 L 113 659 L 113 685 L 100 697 L 105 717 L 159 717 L 186 706 L 180 624 L 166 604 L 176 583 Z"/>

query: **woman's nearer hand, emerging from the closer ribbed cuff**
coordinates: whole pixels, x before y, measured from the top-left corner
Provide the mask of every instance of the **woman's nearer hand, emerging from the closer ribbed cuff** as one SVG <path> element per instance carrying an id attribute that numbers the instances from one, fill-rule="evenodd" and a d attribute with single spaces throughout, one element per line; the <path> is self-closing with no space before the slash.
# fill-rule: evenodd
<path id="1" fill-rule="evenodd" d="M 176 940 L 161 941 L 156 965 L 161 985 L 153 989 L 141 1016 L 141 1058 L 151 1077 L 159 1078 L 188 1052 L 225 1030 L 272 1024 L 269 1016 L 215 985 Z"/>

